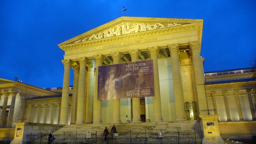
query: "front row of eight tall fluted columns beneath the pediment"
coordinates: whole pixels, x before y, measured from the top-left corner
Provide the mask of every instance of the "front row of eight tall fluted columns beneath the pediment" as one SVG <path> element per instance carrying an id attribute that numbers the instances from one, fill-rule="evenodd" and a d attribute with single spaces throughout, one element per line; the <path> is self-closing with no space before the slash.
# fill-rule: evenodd
<path id="1" fill-rule="evenodd" d="M 182 91 L 182 81 L 181 81 L 181 73 L 180 73 L 180 64 L 178 51 L 179 46 L 178 43 L 167 46 L 170 50 L 170 54 L 172 56 L 172 64 L 173 64 L 173 81 L 174 81 L 174 96 L 175 96 L 175 107 L 176 107 L 176 120 L 185 120 L 184 113 L 184 98 Z M 203 66 L 200 57 L 200 49 L 201 42 L 194 41 L 189 42 L 189 48 L 192 53 L 192 61 L 193 61 L 193 69 L 195 73 L 196 79 L 196 90 L 197 90 L 197 100 L 199 104 L 199 110 L 207 110 L 207 100 L 206 93 L 204 88 L 204 72 Z M 153 121 L 163 121 L 162 119 L 162 110 L 161 110 L 161 96 L 160 96 L 160 86 L 159 86 L 159 74 L 158 74 L 158 54 L 159 48 L 158 46 L 147 48 L 151 60 L 153 60 L 153 71 L 154 71 L 154 87 L 155 87 L 155 96 L 153 96 L 153 110 L 154 110 L 154 118 Z M 113 58 L 113 64 L 119 64 L 120 58 L 122 57 L 122 52 L 110 53 L 110 56 Z M 129 50 L 129 54 L 131 55 L 131 62 L 138 61 L 139 57 L 139 49 Z M 93 123 L 102 123 L 101 117 L 101 105 L 102 101 L 97 100 L 97 86 L 98 86 L 98 67 L 102 66 L 103 60 L 105 60 L 105 56 L 103 54 L 93 56 L 95 60 L 95 65 L 91 72 L 95 69 L 95 80 L 93 78 L 92 73 L 89 76 L 89 86 L 86 85 L 86 65 L 87 63 L 91 63 L 91 60 L 86 57 L 77 58 L 78 61 L 72 60 L 63 60 L 64 64 L 64 79 L 63 79 L 63 94 L 61 99 L 61 110 L 60 110 L 60 124 L 67 124 L 68 120 L 68 89 L 69 89 L 69 77 L 70 77 L 70 68 L 76 63 L 76 67 L 72 66 L 74 69 L 74 89 L 73 89 L 73 98 L 72 98 L 72 110 L 71 110 L 71 124 L 84 124 L 90 123 L 88 119 L 84 120 L 85 111 L 89 111 L 90 107 L 93 107 Z M 87 66 L 88 67 L 88 66 Z M 80 68 L 80 69 L 79 69 Z M 94 86 L 91 81 L 94 80 Z M 90 91 L 90 92 L 86 92 Z M 94 91 L 94 92 L 92 92 Z M 84 96 L 87 93 L 87 96 Z M 87 98 L 85 100 L 84 98 Z M 93 106 L 87 105 L 87 107 L 83 107 L 85 103 L 90 103 L 86 101 L 91 101 L 93 99 Z M 120 99 L 113 99 L 113 123 L 121 122 L 120 119 Z M 77 104 L 77 106 L 75 105 Z M 76 106 L 76 107 L 74 107 Z M 203 111 L 199 112 L 200 114 L 204 114 Z M 207 112 L 205 112 L 207 113 Z M 132 98 L 132 122 L 141 122 L 140 119 L 140 101 L 139 98 Z"/>

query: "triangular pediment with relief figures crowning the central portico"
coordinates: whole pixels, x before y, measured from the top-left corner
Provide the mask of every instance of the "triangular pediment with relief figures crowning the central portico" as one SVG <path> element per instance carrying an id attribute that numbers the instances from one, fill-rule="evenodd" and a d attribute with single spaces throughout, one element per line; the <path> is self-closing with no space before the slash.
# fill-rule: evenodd
<path id="1" fill-rule="evenodd" d="M 98 39 L 122 37 L 127 34 L 145 33 L 152 30 L 163 30 L 187 24 L 202 23 L 202 19 L 174 19 L 174 18 L 144 18 L 144 17 L 120 17 L 103 24 L 95 29 L 71 38 L 59 44 L 65 45 L 92 42 Z"/>

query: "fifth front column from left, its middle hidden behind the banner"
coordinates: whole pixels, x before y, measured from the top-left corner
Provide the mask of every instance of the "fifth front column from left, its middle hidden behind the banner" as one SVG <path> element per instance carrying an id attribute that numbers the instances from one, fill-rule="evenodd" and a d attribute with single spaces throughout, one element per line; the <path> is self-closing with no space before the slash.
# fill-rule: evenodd
<path id="1" fill-rule="evenodd" d="M 129 50 L 129 54 L 132 58 L 131 62 L 138 61 L 140 54 L 138 49 Z M 128 101 L 131 101 L 131 99 L 129 98 Z M 132 98 L 132 122 L 142 122 L 140 118 L 140 98 Z"/>

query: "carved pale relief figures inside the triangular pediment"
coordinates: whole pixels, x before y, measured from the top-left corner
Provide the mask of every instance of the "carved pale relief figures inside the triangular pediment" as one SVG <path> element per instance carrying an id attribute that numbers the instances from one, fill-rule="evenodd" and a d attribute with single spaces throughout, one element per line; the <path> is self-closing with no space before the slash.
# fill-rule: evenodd
<path id="1" fill-rule="evenodd" d="M 104 30 L 100 33 L 93 34 L 90 37 L 85 37 L 82 39 L 79 39 L 75 41 L 74 43 L 79 42 L 85 42 L 85 41 L 91 41 L 95 39 L 101 39 L 101 38 L 109 38 L 114 37 L 118 35 L 124 35 L 124 34 L 131 34 L 131 33 L 138 33 L 142 31 L 148 31 L 148 30 L 155 30 L 155 29 L 162 29 L 165 27 L 172 27 L 172 26 L 179 26 L 181 24 L 178 23 L 168 23 L 166 26 L 161 23 L 155 23 L 155 24 L 145 24 L 145 23 L 127 23 L 122 22 L 121 24 L 117 25 L 116 27 L 112 27 L 108 30 Z"/>

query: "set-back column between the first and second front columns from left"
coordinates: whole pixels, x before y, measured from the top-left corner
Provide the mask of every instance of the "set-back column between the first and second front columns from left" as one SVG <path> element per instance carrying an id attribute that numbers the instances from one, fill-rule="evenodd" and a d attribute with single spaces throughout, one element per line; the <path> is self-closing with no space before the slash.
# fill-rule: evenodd
<path id="1" fill-rule="evenodd" d="M 75 124 L 76 122 L 76 106 L 77 106 L 77 94 L 78 94 L 78 79 L 79 79 L 79 65 L 72 65 L 74 70 L 74 82 L 73 82 L 73 94 L 72 94 L 72 106 L 71 106 L 71 122 L 70 124 Z"/>

